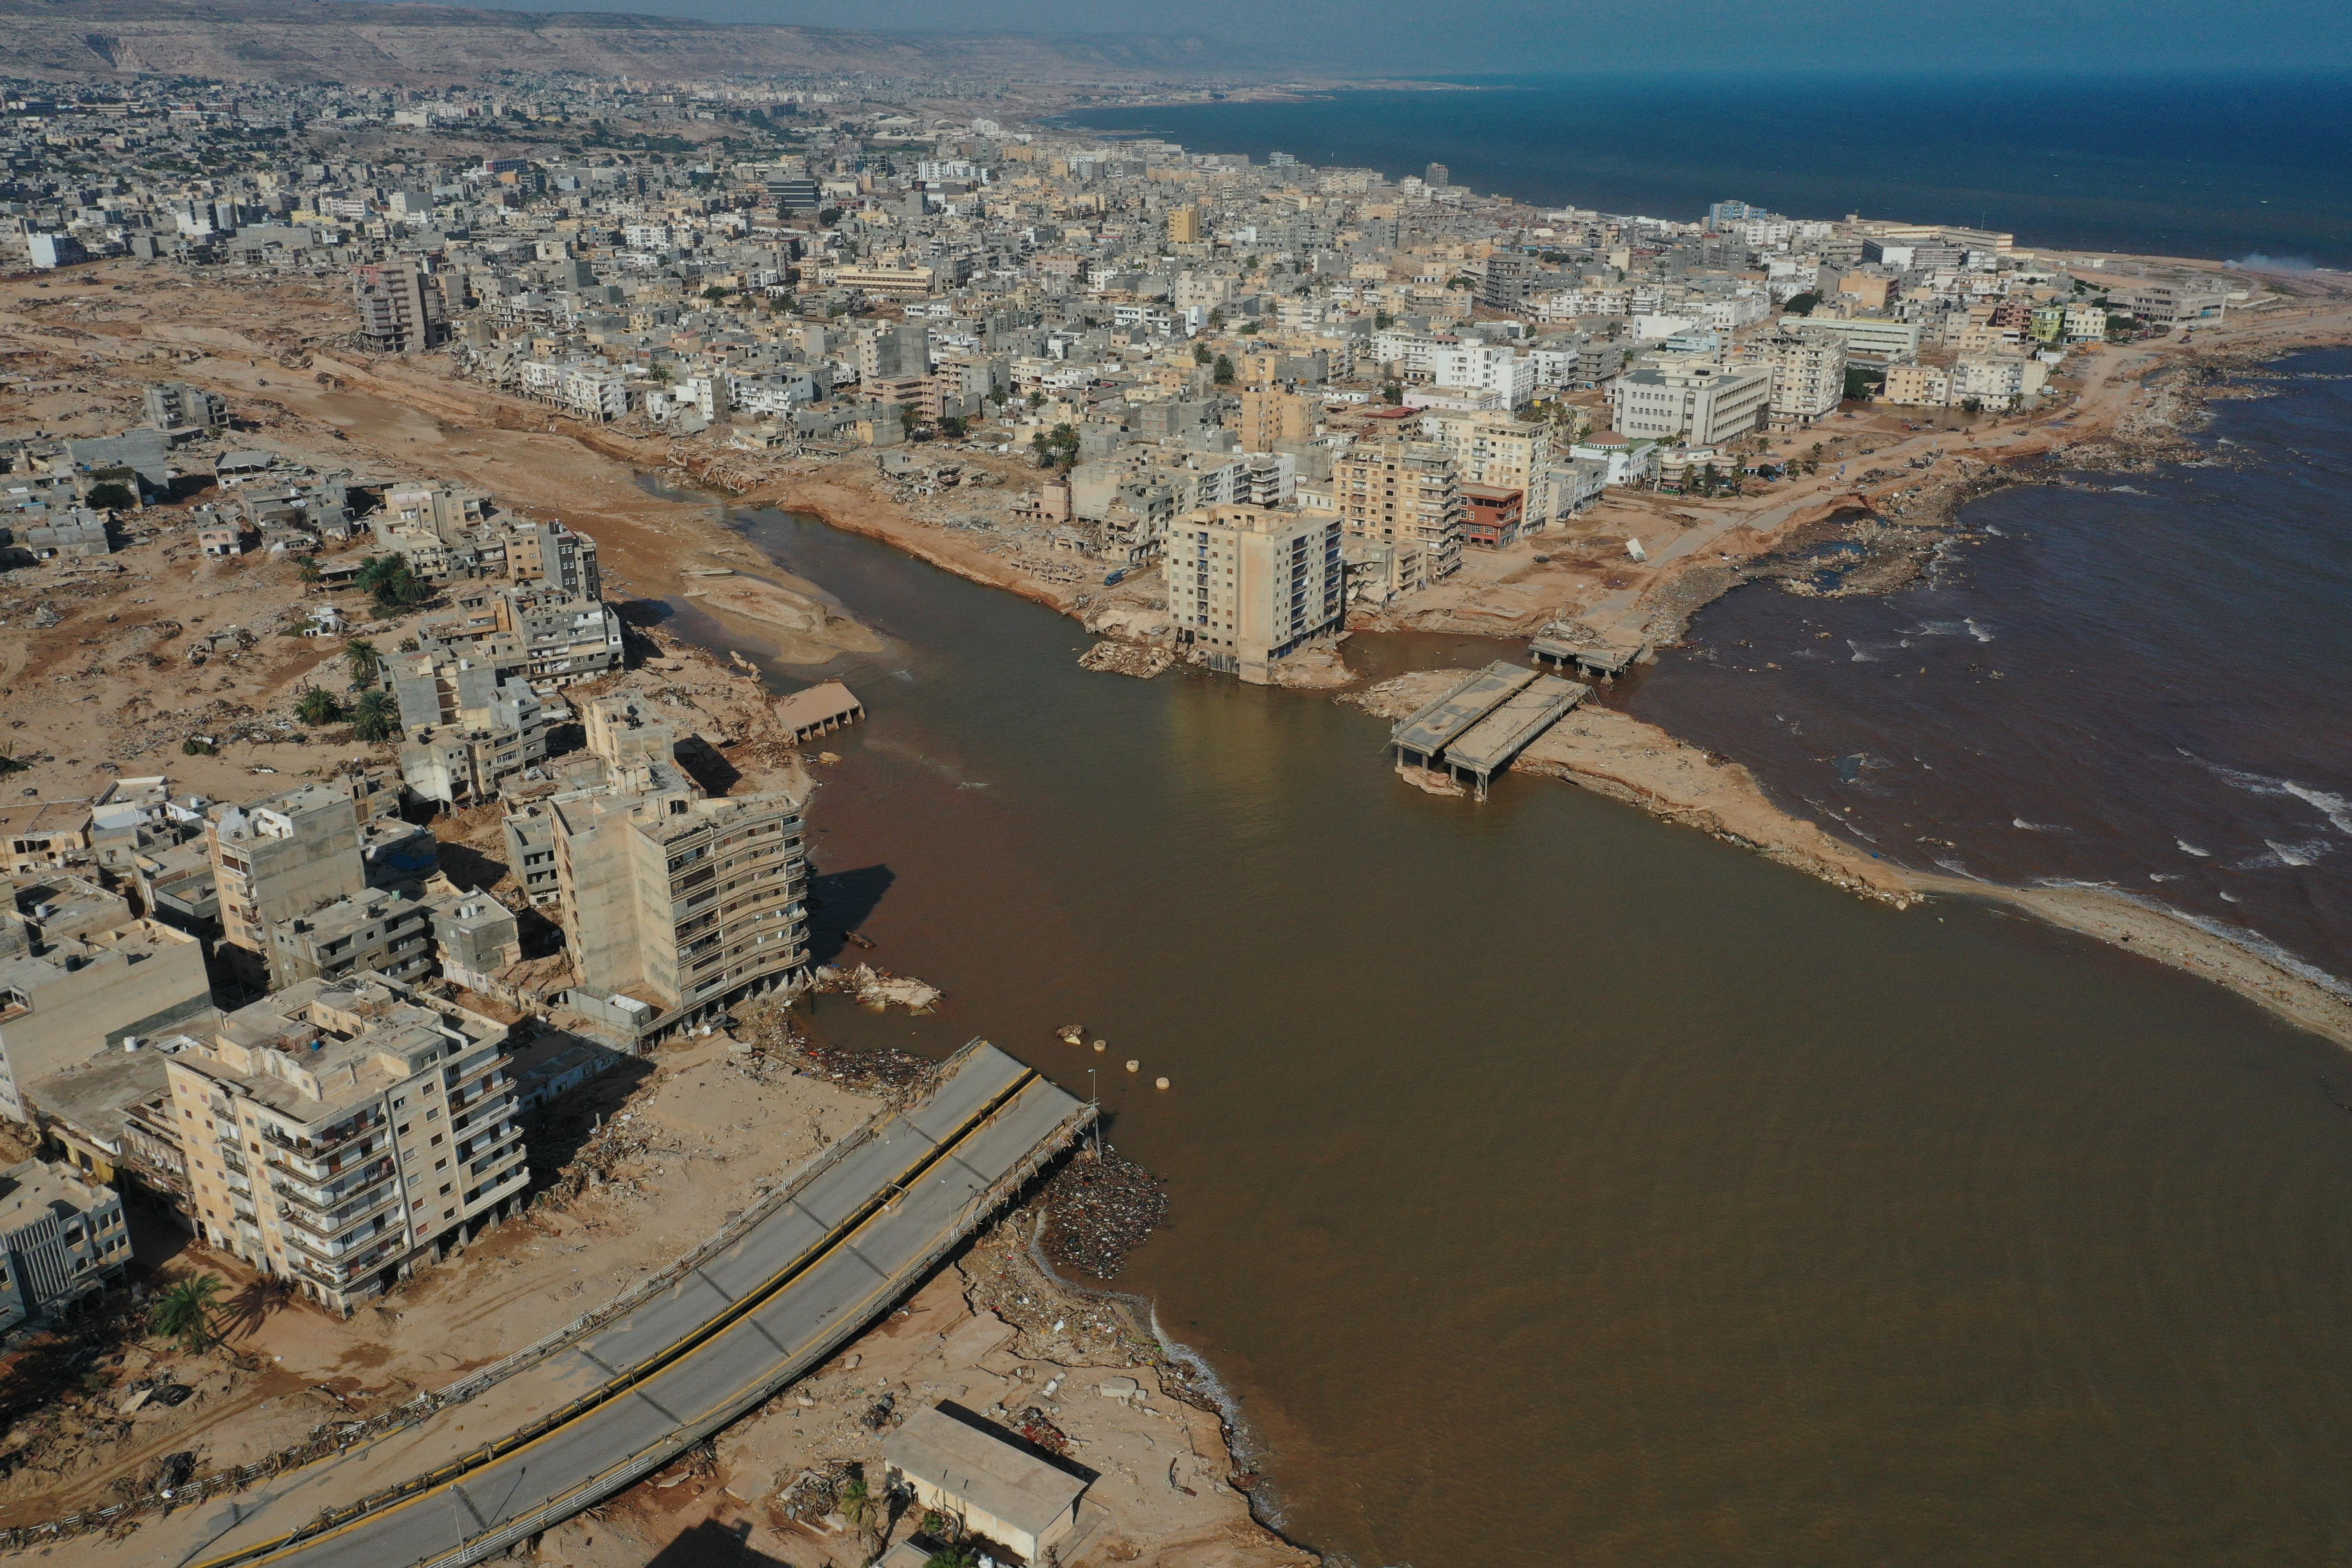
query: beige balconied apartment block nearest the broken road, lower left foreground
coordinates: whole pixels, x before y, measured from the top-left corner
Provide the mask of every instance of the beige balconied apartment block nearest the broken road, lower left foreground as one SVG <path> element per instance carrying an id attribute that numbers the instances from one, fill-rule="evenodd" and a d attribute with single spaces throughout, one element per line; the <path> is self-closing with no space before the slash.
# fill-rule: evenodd
<path id="1" fill-rule="evenodd" d="M 198 1232 L 350 1312 L 520 1204 L 506 1027 L 381 976 L 301 980 L 167 1058 Z"/>

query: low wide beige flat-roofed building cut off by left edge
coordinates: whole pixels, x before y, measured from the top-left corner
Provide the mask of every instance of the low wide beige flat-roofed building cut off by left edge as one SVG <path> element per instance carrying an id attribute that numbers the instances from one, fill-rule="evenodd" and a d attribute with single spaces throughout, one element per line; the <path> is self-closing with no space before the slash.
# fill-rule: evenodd
<path id="1" fill-rule="evenodd" d="M 0 1114 L 33 1121 L 26 1086 L 92 1051 L 209 1016 L 205 945 L 153 919 L 0 959 Z"/>

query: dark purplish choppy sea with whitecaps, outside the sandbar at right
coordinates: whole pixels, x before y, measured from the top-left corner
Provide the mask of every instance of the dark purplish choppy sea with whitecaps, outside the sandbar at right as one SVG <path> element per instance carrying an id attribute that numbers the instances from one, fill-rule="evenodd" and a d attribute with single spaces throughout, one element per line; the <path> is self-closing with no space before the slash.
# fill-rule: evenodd
<path id="1" fill-rule="evenodd" d="M 2352 350 L 2241 386 L 2199 461 L 1978 498 L 1896 595 L 1740 588 L 1611 701 L 1905 865 L 2107 886 L 2352 994 Z"/>

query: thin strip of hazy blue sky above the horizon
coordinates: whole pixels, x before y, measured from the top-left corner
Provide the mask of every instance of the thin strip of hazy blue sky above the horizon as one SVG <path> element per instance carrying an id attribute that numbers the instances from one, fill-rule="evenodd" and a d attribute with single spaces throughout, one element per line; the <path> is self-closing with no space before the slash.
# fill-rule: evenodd
<path id="1" fill-rule="evenodd" d="M 456 0 L 466 2 L 466 0 Z M 1235 66 L 1327 59 L 1374 71 L 1870 63 L 2352 66 L 2345 0 L 473 0 L 875 31 L 1190 33 Z M 1860 82 L 1858 82 L 1860 87 Z M 1828 106 L 1825 106 L 1828 108 Z M 1846 106 L 1856 110 L 1860 103 Z"/>

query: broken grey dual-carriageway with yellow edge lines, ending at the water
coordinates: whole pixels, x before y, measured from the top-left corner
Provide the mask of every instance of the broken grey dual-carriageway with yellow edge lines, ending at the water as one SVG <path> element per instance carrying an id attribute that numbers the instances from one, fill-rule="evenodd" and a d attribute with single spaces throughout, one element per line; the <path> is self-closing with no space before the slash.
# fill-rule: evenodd
<path id="1" fill-rule="evenodd" d="M 503 1552 L 659 1469 L 818 1366 L 915 1288 L 985 1218 L 1007 1180 L 1063 1147 L 1087 1114 L 978 1044 L 924 1105 L 882 1124 L 734 1248 L 635 1314 L 517 1373 L 553 1380 L 576 1399 L 536 1422 L 541 1432 L 506 1436 L 496 1453 L 421 1476 L 407 1500 L 287 1542 L 320 1512 L 355 1502 L 355 1486 L 400 1481 L 397 1469 L 369 1476 L 369 1450 L 386 1439 L 280 1476 L 268 1490 L 207 1502 L 207 1540 L 148 1561 L 395 1568 Z"/>

